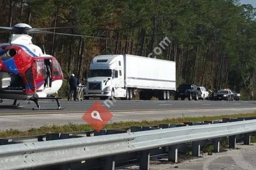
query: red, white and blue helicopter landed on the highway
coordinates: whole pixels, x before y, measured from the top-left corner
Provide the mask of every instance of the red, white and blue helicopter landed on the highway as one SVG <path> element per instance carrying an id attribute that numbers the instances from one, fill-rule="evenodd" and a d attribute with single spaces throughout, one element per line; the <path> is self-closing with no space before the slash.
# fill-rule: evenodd
<path id="1" fill-rule="evenodd" d="M 64 27 L 55 27 L 64 28 Z M 32 28 L 25 23 L 18 23 L 13 27 L 0 27 L 4 31 L 12 32 L 9 43 L 0 44 L 0 103 L 3 99 L 13 99 L 12 105 L 0 105 L 0 108 L 18 108 L 17 100 L 35 102 L 37 108 L 33 110 L 64 109 L 60 97 L 52 97 L 61 88 L 63 73 L 55 57 L 43 52 L 40 47 L 32 43 L 29 34 L 61 34 L 69 36 L 109 39 L 85 35 L 56 33 L 44 31 L 53 28 Z M 57 102 L 57 108 L 41 108 L 39 100 L 52 99 Z"/>

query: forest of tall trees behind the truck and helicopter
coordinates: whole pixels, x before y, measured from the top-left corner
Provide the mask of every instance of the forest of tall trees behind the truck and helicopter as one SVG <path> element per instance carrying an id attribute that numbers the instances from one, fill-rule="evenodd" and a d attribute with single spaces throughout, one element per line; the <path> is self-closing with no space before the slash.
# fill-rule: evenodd
<path id="1" fill-rule="evenodd" d="M 163 52 L 151 57 L 176 62 L 177 85 L 253 89 L 256 11 L 239 0 L 0 0 L 0 7 L 1 26 L 70 26 L 50 31 L 110 38 L 31 34 L 65 78 L 84 79 L 99 54 L 147 57 L 167 37 Z M 8 38 L 0 34 L 0 42 Z"/>

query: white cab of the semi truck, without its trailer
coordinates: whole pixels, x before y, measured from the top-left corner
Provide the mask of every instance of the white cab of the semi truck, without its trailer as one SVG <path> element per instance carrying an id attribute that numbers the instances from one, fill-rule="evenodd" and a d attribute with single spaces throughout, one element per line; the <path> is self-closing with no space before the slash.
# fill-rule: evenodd
<path id="1" fill-rule="evenodd" d="M 125 97 L 123 55 L 96 56 L 90 63 L 84 98 Z"/>

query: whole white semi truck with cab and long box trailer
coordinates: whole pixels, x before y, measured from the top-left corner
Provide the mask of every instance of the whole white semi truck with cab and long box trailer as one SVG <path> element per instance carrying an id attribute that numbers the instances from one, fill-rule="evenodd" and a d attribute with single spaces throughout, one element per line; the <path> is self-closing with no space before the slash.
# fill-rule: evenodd
<path id="1" fill-rule="evenodd" d="M 134 55 L 100 55 L 93 58 L 87 73 L 84 99 L 119 97 L 131 100 L 170 99 L 176 91 L 176 63 Z"/>

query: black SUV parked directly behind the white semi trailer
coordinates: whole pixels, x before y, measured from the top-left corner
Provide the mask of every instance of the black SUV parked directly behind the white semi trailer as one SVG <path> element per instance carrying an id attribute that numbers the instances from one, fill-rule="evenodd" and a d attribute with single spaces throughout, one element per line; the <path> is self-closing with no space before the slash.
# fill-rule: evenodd
<path id="1" fill-rule="evenodd" d="M 177 88 L 177 91 L 175 93 L 174 99 L 177 100 L 178 98 L 181 98 L 181 100 L 185 100 L 187 97 L 189 100 L 195 99 L 198 100 L 198 90 L 196 85 L 180 85 Z"/>

